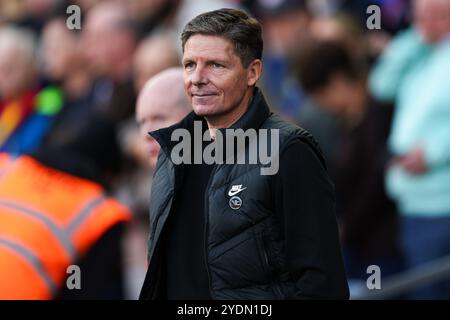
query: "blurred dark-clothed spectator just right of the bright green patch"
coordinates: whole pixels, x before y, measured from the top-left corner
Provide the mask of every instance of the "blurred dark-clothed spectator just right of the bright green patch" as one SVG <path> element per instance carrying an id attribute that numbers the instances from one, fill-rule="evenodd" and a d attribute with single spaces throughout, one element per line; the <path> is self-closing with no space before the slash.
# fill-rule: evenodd
<path id="1" fill-rule="evenodd" d="M 42 32 L 43 75 L 57 83 L 64 94 L 64 106 L 56 116 L 44 143 L 63 146 L 82 134 L 86 119 L 95 112 L 92 77 L 82 54 L 80 37 L 66 27 L 64 18 L 50 20 Z"/>

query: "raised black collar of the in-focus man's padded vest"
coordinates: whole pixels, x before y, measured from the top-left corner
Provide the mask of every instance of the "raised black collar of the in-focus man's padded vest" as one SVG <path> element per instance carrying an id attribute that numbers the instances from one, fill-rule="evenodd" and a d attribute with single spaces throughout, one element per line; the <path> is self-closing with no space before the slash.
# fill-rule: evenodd
<path id="1" fill-rule="evenodd" d="M 266 103 L 266 100 L 258 87 L 254 88 L 252 100 L 247 108 L 244 115 L 236 121 L 230 129 L 243 129 L 244 131 L 250 128 L 258 129 L 262 123 L 271 115 L 270 109 Z M 185 118 L 180 122 L 166 128 L 151 131 L 150 134 L 153 138 L 158 141 L 161 149 L 166 153 L 170 154 L 173 147 L 178 143 L 177 141 L 172 141 L 172 132 L 176 129 L 186 129 L 189 132 L 194 132 L 194 121 L 202 122 L 202 129 L 206 130 L 208 125 L 205 118 L 196 115 L 193 111 L 190 112 Z M 221 131 L 226 128 L 219 129 Z"/>

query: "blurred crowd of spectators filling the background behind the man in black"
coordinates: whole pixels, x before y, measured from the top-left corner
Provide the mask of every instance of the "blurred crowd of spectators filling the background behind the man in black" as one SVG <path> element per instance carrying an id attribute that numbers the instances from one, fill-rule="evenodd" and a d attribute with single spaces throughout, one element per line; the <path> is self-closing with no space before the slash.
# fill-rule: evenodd
<path id="1" fill-rule="evenodd" d="M 374 4 L 381 28 L 371 30 Z M 81 9 L 80 29 L 67 25 L 70 5 Z M 147 132 L 190 111 L 181 31 L 222 7 L 262 22 L 259 86 L 323 149 L 348 278 L 365 281 L 369 265 L 388 277 L 450 254 L 450 1 L 1 0 L 0 151 L 95 182 L 132 214 L 86 249 L 109 253 L 84 261 L 119 259 L 120 272 L 97 281 L 122 284 L 100 290 L 93 277 L 81 297 L 138 296 L 159 152 Z M 0 207 L 8 170 L 0 168 Z M 450 298 L 450 280 L 405 297 Z"/>

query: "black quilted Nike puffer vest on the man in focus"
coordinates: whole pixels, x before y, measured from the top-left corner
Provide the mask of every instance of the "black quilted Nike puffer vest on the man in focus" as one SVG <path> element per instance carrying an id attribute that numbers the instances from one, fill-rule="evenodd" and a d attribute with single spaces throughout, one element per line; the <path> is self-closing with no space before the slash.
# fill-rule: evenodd
<path id="1" fill-rule="evenodd" d="M 180 123 L 152 133 L 160 143 L 162 152 L 153 178 L 149 269 L 140 299 L 161 298 L 161 234 L 177 195 L 183 170 L 182 165 L 174 165 L 170 160 L 176 143 L 170 137 L 177 128 L 193 130 L 194 120 L 201 118 L 191 113 Z M 289 142 L 298 139 L 314 150 L 325 166 L 312 136 L 272 114 L 257 88 L 247 112 L 232 128 L 279 129 L 280 154 Z M 298 296 L 298 279 L 294 279 L 286 263 L 282 223 L 274 214 L 269 182 L 271 176 L 261 175 L 260 168 L 261 164 L 217 164 L 211 173 L 205 194 L 205 256 L 213 299 L 289 299 Z M 230 205 L 229 191 L 233 185 L 246 187 L 239 193 L 241 205 L 238 209 Z M 295 190 L 288 192 L 302 201 Z M 329 216 L 335 219 L 334 212 Z M 338 292 L 322 298 L 347 298 L 348 287 L 340 258 L 336 221 L 333 223 L 331 238 L 336 242 L 333 250 L 337 252 L 336 268 L 340 275 L 334 281 L 340 287 Z"/>

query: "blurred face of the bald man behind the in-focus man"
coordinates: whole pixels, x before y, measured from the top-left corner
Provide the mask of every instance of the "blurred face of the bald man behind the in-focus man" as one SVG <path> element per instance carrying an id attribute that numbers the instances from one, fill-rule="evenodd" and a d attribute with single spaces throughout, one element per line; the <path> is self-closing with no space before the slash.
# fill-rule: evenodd
<path id="1" fill-rule="evenodd" d="M 144 99 L 138 101 L 136 120 L 139 123 L 141 141 L 145 144 L 145 153 L 153 168 L 158 160 L 160 146 L 148 132 L 171 126 L 187 114 L 188 111 L 176 103 L 175 99 L 156 92 L 148 93 Z"/>

